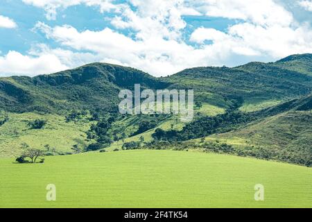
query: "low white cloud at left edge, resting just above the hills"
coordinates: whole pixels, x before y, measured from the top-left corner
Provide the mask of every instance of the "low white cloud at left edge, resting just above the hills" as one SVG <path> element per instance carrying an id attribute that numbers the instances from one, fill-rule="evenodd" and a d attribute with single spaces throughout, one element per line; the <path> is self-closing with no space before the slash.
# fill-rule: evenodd
<path id="1" fill-rule="evenodd" d="M 0 76 L 12 74 L 50 74 L 67 69 L 57 56 L 44 54 L 40 57 L 24 56 L 17 51 L 9 51 L 6 56 L 0 56 Z"/>

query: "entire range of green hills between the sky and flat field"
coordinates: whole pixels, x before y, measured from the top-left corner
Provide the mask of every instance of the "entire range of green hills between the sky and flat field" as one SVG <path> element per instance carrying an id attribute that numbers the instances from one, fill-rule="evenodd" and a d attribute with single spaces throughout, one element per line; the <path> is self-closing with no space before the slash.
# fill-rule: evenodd
<path id="1" fill-rule="evenodd" d="M 94 63 L 57 74 L 0 78 L 1 156 L 21 144 L 49 155 L 137 148 L 230 153 L 311 166 L 312 55 L 154 78 Z M 119 91 L 194 89 L 195 116 L 121 115 Z"/>

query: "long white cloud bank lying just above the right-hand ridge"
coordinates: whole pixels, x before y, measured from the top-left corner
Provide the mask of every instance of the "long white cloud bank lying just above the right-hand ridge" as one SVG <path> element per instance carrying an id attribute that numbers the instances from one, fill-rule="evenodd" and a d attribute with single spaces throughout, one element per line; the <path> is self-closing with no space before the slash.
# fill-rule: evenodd
<path id="1" fill-rule="evenodd" d="M 197 28 L 191 34 L 191 41 L 205 45 L 205 40 L 212 41 L 210 48 L 220 48 L 223 52 L 238 56 L 261 56 L 282 58 L 295 53 L 311 53 L 312 30 L 309 26 L 297 28 L 236 24 L 229 27 L 227 33 L 214 28 Z M 222 46 L 222 47 L 221 47 Z"/>

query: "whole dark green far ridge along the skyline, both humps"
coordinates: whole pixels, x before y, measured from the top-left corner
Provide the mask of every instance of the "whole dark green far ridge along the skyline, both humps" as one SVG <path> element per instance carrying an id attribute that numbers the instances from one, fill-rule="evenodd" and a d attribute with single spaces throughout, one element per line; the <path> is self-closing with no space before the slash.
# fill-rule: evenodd
<path id="1" fill-rule="evenodd" d="M 289 61 L 299 65 L 288 65 Z M 135 83 L 151 89 L 194 89 L 196 100 L 220 108 L 231 106 L 231 99 L 248 105 L 271 105 L 312 91 L 312 76 L 306 75 L 309 70 L 293 71 L 294 67 L 309 67 L 311 62 L 310 55 L 236 68 L 198 67 L 166 78 L 154 78 L 130 67 L 93 63 L 34 78 L 0 78 L 0 108 L 10 112 L 113 111 L 120 89 L 132 89 Z"/>

